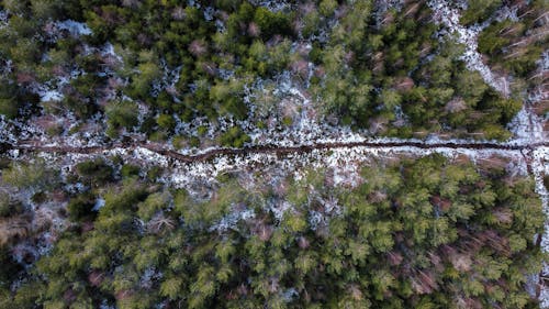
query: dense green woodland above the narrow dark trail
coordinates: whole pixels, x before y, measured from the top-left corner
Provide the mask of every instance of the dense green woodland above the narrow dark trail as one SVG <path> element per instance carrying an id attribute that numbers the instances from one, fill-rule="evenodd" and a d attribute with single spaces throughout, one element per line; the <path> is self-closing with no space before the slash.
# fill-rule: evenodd
<path id="1" fill-rule="evenodd" d="M 277 112 L 269 91 L 249 102 L 245 95 L 290 71 L 321 119 L 376 135 L 505 140 L 547 38 L 542 0 L 516 1 L 519 21 L 496 22 L 481 34 L 479 49 L 489 63 L 501 62 L 516 77 L 513 95 L 503 98 L 466 69 L 463 46 L 441 34 L 425 1 L 389 8 L 383 1 L 289 1 L 281 10 L 256 1 L 191 2 L 2 1 L 0 113 L 70 112 L 81 121 L 71 132 L 51 124 L 54 135 L 107 117 L 111 139 L 142 132 L 195 146 L 200 134 L 189 136 L 178 124 L 205 117 L 214 126 L 226 118 L 264 128 L 266 114 Z M 469 2 L 464 24 L 509 4 Z M 504 48 L 518 40 L 518 51 Z M 44 96 L 48 89 L 56 95 Z M 254 112 L 264 109 L 269 112 Z M 279 117 L 278 125 L 291 124 L 291 117 Z M 238 125 L 223 130 L 215 143 L 249 142 Z"/>

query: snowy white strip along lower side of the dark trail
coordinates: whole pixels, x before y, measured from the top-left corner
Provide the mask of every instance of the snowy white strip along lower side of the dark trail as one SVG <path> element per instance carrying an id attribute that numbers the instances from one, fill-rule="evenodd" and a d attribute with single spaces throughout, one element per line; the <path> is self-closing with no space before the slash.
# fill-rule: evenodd
<path id="1" fill-rule="evenodd" d="M 309 153 L 291 153 L 284 155 L 281 159 L 279 155 L 273 153 L 253 153 L 246 155 L 220 155 L 211 161 L 183 163 L 161 154 L 155 153 L 147 148 L 136 147 L 127 150 L 122 147 L 112 148 L 109 151 L 96 154 L 54 154 L 38 153 L 38 156 L 48 161 L 51 164 L 59 164 L 63 168 L 70 168 L 81 161 L 90 159 L 98 156 L 114 156 L 120 155 L 128 157 L 133 161 L 142 162 L 143 166 L 160 166 L 169 167 L 168 174 L 163 177 L 163 181 L 175 187 L 186 187 L 189 184 L 202 179 L 212 181 L 216 176 L 227 172 L 255 169 L 264 170 L 266 167 L 277 166 L 277 169 L 289 170 L 294 173 L 295 177 L 301 177 L 303 168 L 329 168 L 334 172 L 334 181 L 336 185 L 344 184 L 357 185 L 357 175 L 360 166 L 368 164 L 376 158 L 399 158 L 402 156 L 426 156 L 439 153 L 449 158 L 456 158 L 459 155 L 466 155 L 473 162 L 482 159 L 491 159 L 494 156 L 509 158 L 511 165 L 507 166 L 509 172 L 526 175 L 527 166 L 525 156 L 520 151 L 512 150 L 471 150 L 471 148 L 451 148 L 451 147 L 433 147 L 418 148 L 414 146 L 394 146 L 394 147 L 370 147 L 355 146 L 332 150 L 313 150 Z M 27 159 L 20 156 L 19 152 L 12 151 L 12 158 Z M 355 179 L 355 180 L 352 180 Z"/>

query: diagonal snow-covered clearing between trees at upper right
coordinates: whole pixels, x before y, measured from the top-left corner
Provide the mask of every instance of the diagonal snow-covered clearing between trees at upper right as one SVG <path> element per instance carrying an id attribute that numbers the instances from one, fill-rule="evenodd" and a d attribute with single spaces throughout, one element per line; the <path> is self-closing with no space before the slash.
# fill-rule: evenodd
<path id="1" fill-rule="evenodd" d="M 428 4 L 433 9 L 435 22 L 446 25 L 449 34 L 456 33 L 457 41 L 466 46 L 466 53 L 461 58 L 466 62 L 467 67 L 471 70 L 479 71 L 488 85 L 508 97 L 511 91 L 507 78 L 493 73 L 490 67 L 482 62 L 482 55 L 477 51 L 477 38 L 479 33 L 488 26 L 488 24 L 466 27 L 459 23 L 460 14 L 458 10 L 450 8 L 448 1 L 432 0 Z"/>

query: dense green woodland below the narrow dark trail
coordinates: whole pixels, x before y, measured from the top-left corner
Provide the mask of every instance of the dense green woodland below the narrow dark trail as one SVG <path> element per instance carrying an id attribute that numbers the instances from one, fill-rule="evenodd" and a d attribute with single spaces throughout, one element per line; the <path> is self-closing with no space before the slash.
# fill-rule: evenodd
<path id="1" fill-rule="evenodd" d="M 504 166 L 432 155 L 365 166 L 356 188 L 310 169 L 170 189 L 120 157 L 63 177 L 12 163 L 0 307 L 536 308 L 544 214 Z"/>

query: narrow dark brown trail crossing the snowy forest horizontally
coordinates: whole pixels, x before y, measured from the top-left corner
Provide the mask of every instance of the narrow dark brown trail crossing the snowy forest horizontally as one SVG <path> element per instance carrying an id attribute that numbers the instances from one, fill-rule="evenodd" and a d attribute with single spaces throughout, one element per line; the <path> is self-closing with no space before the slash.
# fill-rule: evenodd
<path id="1" fill-rule="evenodd" d="M 236 155 L 249 155 L 249 154 L 276 154 L 276 155 L 288 155 L 288 154 L 303 154 L 311 153 L 315 150 L 329 151 L 338 148 L 354 148 L 354 147 L 367 147 L 367 148 L 404 148 L 414 147 L 417 150 L 437 150 L 437 148 L 451 148 L 451 150 L 498 150 L 498 151 L 520 151 L 520 152 L 531 152 L 538 147 L 548 147 L 549 141 L 538 142 L 531 144 L 512 144 L 512 143 L 494 143 L 494 142 L 418 142 L 418 141 L 362 141 L 362 142 L 340 142 L 340 143 L 314 143 L 310 145 L 296 145 L 296 146 L 280 146 L 273 144 L 267 145 L 251 145 L 243 148 L 211 148 L 199 154 L 186 155 L 177 151 L 169 150 L 160 144 L 153 144 L 146 142 L 127 142 L 127 143 L 114 143 L 105 146 L 87 146 L 87 147 L 75 147 L 75 146 L 53 146 L 41 143 L 19 143 L 19 144 L 0 144 L 0 154 L 7 153 L 8 151 L 19 151 L 22 153 L 55 153 L 55 154 L 101 154 L 108 151 L 114 150 L 126 150 L 134 151 L 136 148 L 146 148 L 154 153 L 160 154 L 163 156 L 170 157 L 172 159 L 182 163 L 195 163 L 205 162 L 212 159 L 216 156 L 236 156 Z"/>

